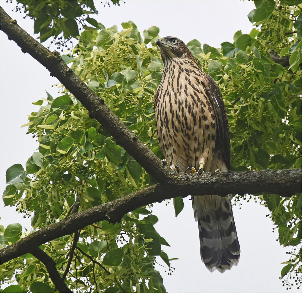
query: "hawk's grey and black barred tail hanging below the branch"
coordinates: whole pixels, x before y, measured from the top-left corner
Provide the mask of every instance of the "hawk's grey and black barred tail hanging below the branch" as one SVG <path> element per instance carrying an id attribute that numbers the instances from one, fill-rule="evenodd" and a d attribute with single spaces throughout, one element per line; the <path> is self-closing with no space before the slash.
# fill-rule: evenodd
<path id="1" fill-rule="evenodd" d="M 213 272 L 223 273 L 239 262 L 237 238 L 229 196 L 195 196 L 195 220 L 198 222 L 201 260 Z"/>

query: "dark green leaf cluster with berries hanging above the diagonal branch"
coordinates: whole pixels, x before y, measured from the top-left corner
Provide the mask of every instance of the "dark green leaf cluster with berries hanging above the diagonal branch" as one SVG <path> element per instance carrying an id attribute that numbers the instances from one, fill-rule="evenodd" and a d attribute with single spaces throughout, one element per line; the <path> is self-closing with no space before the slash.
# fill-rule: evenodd
<path id="1" fill-rule="evenodd" d="M 119 1 L 111 1 L 120 5 Z M 107 4 L 110 6 L 109 1 Z M 98 14 L 93 1 L 18 1 L 16 11 L 24 11 L 25 17 L 34 20 L 34 33 L 40 34 L 43 43 L 52 38 L 57 49 L 73 47 L 72 38 L 78 39 L 80 30 L 98 30 L 97 20 L 90 17 Z M 67 45 L 70 43 L 70 45 Z"/>

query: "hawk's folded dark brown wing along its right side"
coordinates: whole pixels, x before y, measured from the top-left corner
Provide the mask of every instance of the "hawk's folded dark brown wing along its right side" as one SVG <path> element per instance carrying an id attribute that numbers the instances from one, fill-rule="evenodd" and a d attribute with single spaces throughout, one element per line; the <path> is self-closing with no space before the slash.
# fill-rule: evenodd
<path id="1" fill-rule="evenodd" d="M 208 74 L 204 74 L 205 90 L 208 92 L 208 97 L 212 100 L 214 110 L 217 115 L 218 135 L 221 148 L 223 151 L 224 162 L 228 170 L 231 167 L 231 151 L 230 151 L 230 130 L 229 122 L 226 113 L 226 107 L 224 106 L 223 98 L 221 96 L 219 87 L 215 80 Z M 217 141 L 217 140 L 216 140 Z"/>

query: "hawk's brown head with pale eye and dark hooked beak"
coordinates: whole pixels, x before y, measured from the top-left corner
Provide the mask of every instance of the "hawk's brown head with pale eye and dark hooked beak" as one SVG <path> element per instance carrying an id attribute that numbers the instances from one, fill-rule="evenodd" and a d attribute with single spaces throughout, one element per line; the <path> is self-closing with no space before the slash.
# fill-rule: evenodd
<path id="1" fill-rule="evenodd" d="M 164 63 L 172 58 L 193 57 L 185 43 L 172 36 L 166 36 L 156 40 L 156 45 L 159 46 L 162 61 L 164 61 Z"/>

